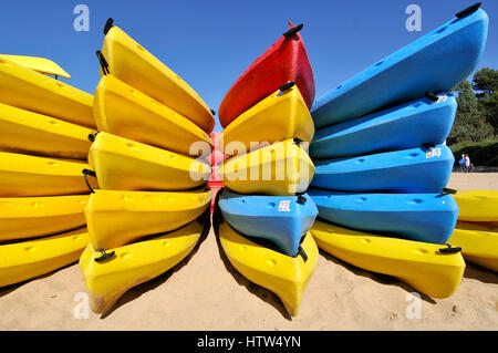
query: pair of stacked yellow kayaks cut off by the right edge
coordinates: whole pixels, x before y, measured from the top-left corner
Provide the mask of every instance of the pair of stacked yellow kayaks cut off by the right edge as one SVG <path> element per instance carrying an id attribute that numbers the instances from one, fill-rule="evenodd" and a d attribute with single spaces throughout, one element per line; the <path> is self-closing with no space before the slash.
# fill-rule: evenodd
<path id="1" fill-rule="evenodd" d="M 449 241 L 469 262 L 498 272 L 498 191 L 457 190 L 458 222 Z"/>

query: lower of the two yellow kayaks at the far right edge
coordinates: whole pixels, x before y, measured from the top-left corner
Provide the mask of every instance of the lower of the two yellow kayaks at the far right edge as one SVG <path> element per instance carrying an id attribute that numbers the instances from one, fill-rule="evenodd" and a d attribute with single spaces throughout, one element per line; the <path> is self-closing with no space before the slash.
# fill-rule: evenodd
<path id="1" fill-rule="evenodd" d="M 458 221 L 449 241 L 461 248 L 465 259 L 469 262 L 498 272 L 497 226 Z"/>

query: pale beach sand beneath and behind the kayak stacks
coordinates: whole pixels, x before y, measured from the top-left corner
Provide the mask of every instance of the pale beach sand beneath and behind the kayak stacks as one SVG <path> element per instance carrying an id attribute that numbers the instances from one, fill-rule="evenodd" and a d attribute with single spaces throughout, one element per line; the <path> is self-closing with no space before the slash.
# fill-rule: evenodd
<path id="1" fill-rule="evenodd" d="M 449 186 L 498 190 L 498 174 L 456 173 Z M 77 264 L 0 289 L 0 330 L 498 329 L 496 273 L 467 263 L 453 297 L 423 295 L 421 318 L 409 319 L 412 288 L 323 252 L 300 313 L 291 319 L 273 293 L 234 270 L 212 231 L 191 256 L 129 290 L 105 315 L 90 312 L 85 318 L 85 311 L 80 311 L 84 291 Z"/>

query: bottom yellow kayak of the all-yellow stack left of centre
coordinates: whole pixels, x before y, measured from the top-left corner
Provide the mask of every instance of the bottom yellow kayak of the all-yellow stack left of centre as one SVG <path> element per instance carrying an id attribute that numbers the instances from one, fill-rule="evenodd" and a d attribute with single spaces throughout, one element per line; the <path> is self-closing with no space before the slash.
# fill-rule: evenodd
<path id="1" fill-rule="evenodd" d="M 167 235 L 112 249 L 103 261 L 89 246 L 80 268 L 95 313 L 104 313 L 131 288 L 146 282 L 180 262 L 196 246 L 204 225 L 197 220 Z M 114 252 L 114 253 L 113 253 Z"/>

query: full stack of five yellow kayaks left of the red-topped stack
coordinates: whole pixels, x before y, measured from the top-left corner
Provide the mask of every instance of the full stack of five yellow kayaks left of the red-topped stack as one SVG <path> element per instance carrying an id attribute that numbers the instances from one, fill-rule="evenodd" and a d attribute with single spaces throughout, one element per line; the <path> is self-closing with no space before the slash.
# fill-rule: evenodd
<path id="1" fill-rule="evenodd" d="M 95 313 L 184 259 L 211 200 L 203 157 L 212 148 L 212 113 L 111 19 L 104 33 L 93 105 L 100 132 L 84 172 L 100 189 L 85 208 L 90 245 L 80 259 Z"/>

